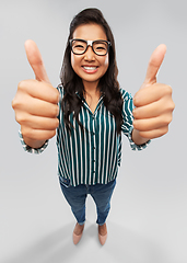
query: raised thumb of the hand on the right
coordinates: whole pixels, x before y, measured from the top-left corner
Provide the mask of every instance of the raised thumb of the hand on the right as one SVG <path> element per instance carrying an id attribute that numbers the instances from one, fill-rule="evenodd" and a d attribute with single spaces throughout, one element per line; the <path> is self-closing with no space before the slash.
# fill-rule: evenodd
<path id="1" fill-rule="evenodd" d="M 160 46 L 157 46 L 154 49 L 153 54 L 151 55 L 149 65 L 148 65 L 144 83 L 155 83 L 156 82 L 156 73 L 162 65 L 165 53 L 166 53 L 166 46 L 164 44 L 161 44 Z"/>

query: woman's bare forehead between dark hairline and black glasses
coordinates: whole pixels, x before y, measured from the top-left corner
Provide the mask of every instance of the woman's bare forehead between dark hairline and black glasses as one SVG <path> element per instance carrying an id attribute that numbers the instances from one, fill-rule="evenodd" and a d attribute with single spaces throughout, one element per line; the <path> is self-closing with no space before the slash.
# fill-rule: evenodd
<path id="1" fill-rule="evenodd" d="M 98 24 L 79 25 L 73 33 L 73 38 L 82 38 L 85 41 L 95 41 L 95 39 L 107 41 L 103 26 Z"/>

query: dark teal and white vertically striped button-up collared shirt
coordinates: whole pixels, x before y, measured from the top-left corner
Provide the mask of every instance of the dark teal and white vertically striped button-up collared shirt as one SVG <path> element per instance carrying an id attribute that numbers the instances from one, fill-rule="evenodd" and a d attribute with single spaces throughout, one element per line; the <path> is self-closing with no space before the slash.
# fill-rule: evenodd
<path id="1" fill-rule="evenodd" d="M 63 98 L 62 87 L 59 85 L 57 89 Z M 150 141 L 141 146 L 132 141 L 132 96 L 122 89 L 120 92 L 124 99 L 121 132 L 128 137 L 132 150 L 142 150 Z M 61 180 L 67 179 L 73 186 L 107 184 L 117 176 L 121 162 L 121 135 L 116 132 L 115 117 L 106 110 L 103 96 L 101 96 L 94 113 L 85 100 L 82 102 L 79 121 L 82 123 L 84 132 L 73 118 L 73 113 L 70 114 L 73 128 L 71 128 L 71 133 L 68 132 L 60 106 L 59 127 L 57 128 L 58 175 Z M 32 149 L 24 144 L 21 134 L 20 137 L 24 149 L 28 152 L 40 153 L 48 145 L 47 141 L 42 148 Z"/>

